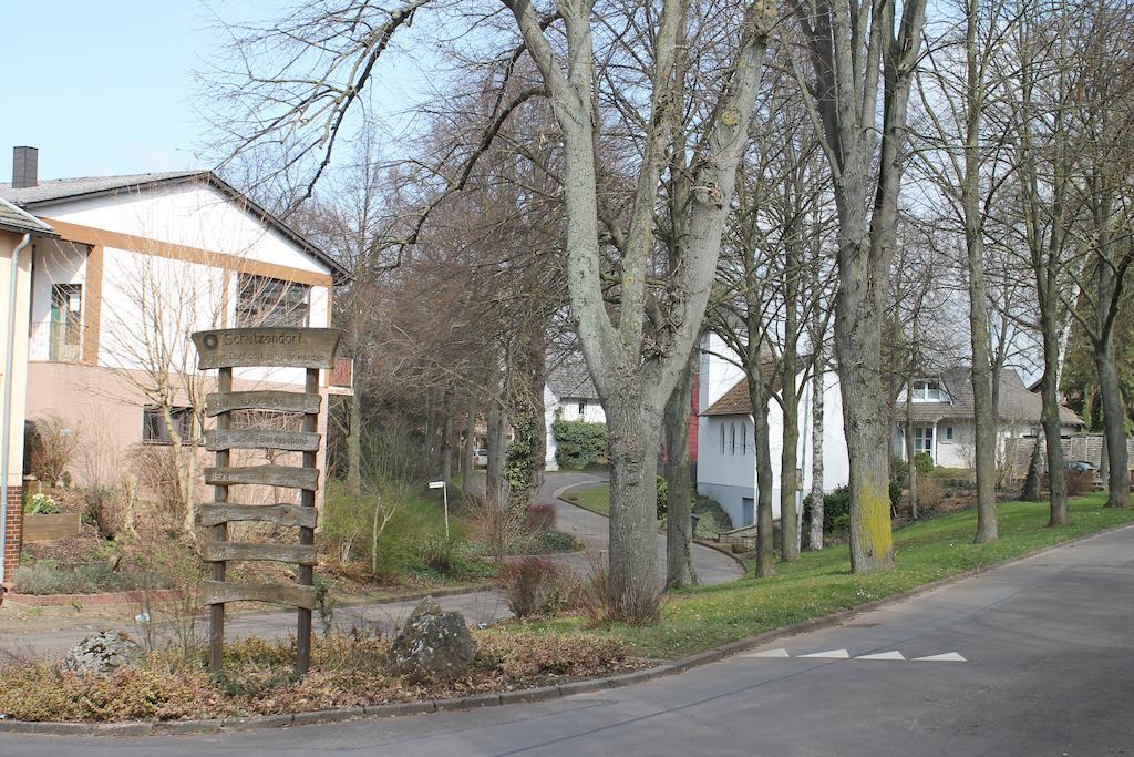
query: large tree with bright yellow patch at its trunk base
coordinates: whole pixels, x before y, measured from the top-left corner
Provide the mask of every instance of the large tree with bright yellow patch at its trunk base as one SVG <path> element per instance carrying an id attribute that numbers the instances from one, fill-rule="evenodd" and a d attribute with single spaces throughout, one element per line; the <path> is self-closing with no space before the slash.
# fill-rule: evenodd
<path id="1" fill-rule="evenodd" d="M 793 0 L 792 9 L 811 53 L 807 102 L 839 219 L 835 346 L 850 460 L 850 569 L 864 572 L 894 564 L 881 325 L 925 2 L 904 2 L 900 17 L 889 0 Z"/>

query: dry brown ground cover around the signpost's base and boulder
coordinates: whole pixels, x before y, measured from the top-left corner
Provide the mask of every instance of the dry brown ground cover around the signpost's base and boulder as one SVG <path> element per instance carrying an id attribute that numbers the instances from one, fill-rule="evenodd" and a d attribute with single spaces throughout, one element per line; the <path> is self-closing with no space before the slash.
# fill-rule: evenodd
<path id="1" fill-rule="evenodd" d="M 476 661 L 452 682 L 416 682 L 392 673 L 389 640 L 359 634 L 316 639 L 312 670 L 303 679 L 291 673 L 294 642 L 263 639 L 230 644 L 219 679 L 208 674 L 203 657 L 181 664 L 169 653 L 151 654 L 139 666 L 107 676 L 9 661 L 0 668 L 0 713 L 27 721 L 236 717 L 521 689 L 645 665 L 628 657 L 621 642 L 585 633 L 488 630 L 474 637 Z"/>

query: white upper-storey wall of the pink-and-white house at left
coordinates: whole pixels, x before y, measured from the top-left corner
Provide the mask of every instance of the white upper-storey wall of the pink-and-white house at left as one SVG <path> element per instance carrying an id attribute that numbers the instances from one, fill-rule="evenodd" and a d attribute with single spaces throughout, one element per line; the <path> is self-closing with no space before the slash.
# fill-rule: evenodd
<path id="1" fill-rule="evenodd" d="M 304 271 L 329 274 L 294 242 L 266 228 L 244 212 L 223 193 L 197 183 L 185 183 L 144 192 L 121 193 L 60 203 L 43 215 L 94 228 L 169 242 L 286 266 Z M 51 255 L 41 256 L 43 270 L 36 270 L 36 301 L 33 320 L 46 321 L 51 285 L 85 281 L 85 247 L 59 245 Z M 195 351 L 187 337 L 194 330 L 232 326 L 236 322 L 237 276 L 206 261 L 171 260 L 146 254 L 144 250 L 105 246 L 102 279 L 102 313 L 99 363 L 110 368 L 144 368 L 146 344 L 142 336 L 153 329 L 142 328 L 146 312 L 162 312 L 174 362 L 186 368 L 195 364 Z M 160 309 L 142 302 L 160 300 Z M 87 293 L 84 287 L 84 313 Z M 84 314 L 85 318 L 85 314 Z M 311 287 L 310 325 L 330 325 L 330 289 Z M 33 343 L 44 345 L 33 334 Z M 39 354 L 36 354 L 39 358 Z M 237 369 L 237 379 L 302 385 L 303 369 Z"/>

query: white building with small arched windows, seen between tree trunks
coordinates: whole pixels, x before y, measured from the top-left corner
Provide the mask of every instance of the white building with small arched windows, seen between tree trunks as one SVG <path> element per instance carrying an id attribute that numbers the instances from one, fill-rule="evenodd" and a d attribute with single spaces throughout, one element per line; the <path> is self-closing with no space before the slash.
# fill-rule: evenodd
<path id="1" fill-rule="evenodd" d="M 714 334 L 701 343 L 697 393 L 697 493 L 718 501 L 737 528 L 755 523 L 756 452 L 755 422 L 744 371 L 726 359 L 729 350 Z M 768 377 L 770 380 L 770 376 Z M 801 376 L 798 381 L 803 381 Z M 799 401 L 799 447 L 796 451 L 802 493 L 811 489 L 812 382 L 806 381 Z M 779 518 L 784 448 L 784 411 L 768 405 L 769 447 L 772 457 L 772 516 Z M 849 480 L 846 440 L 843 435 L 843 397 L 833 372 L 823 376 L 823 490 Z"/>

